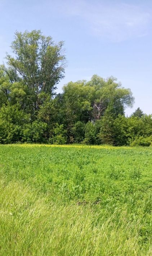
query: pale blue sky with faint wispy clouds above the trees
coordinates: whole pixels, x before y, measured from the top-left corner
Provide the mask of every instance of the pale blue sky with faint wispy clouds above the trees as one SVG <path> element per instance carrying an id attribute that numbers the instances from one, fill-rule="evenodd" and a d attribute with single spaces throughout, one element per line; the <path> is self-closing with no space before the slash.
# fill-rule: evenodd
<path id="1" fill-rule="evenodd" d="M 65 41 L 68 81 L 93 74 L 115 76 L 152 113 L 152 1 L 137 0 L 0 0 L 0 63 L 15 30 L 41 29 L 55 42 Z"/>

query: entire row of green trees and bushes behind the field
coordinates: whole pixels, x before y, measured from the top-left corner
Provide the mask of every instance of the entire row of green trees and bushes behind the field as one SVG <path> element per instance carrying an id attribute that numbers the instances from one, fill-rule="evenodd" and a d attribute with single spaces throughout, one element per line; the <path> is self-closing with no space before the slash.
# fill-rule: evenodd
<path id="1" fill-rule="evenodd" d="M 0 143 L 149 146 L 152 115 L 138 108 L 125 117 L 134 97 L 116 78 L 93 75 L 55 93 L 66 67 L 63 47 L 39 30 L 15 32 L 13 55 L 0 66 Z"/>

